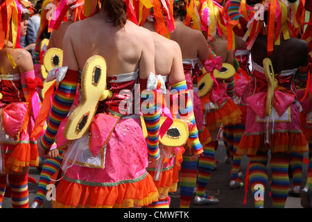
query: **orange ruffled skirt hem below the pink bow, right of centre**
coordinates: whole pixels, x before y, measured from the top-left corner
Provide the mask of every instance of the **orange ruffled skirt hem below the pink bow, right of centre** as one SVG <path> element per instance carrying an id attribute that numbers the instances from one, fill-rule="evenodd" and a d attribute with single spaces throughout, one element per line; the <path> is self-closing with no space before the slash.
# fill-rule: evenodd
<path id="1" fill-rule="evenodd" d="M 208 130 L 216 130 L 229 123 L 240 123 L 241 114 L 239 106 L 232 99 L 227 99 L 220 108 L 206 114 L 206 126 Z"/>

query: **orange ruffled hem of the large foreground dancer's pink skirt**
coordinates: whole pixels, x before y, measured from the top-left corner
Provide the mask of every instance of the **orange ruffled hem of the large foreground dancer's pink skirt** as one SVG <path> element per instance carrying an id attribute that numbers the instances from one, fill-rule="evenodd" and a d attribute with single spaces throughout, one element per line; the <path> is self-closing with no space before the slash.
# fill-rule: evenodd
<path id="1" fill-rule="evenodd" d="M 139 181 L 114 187 L 83 185 L 69 180 L 64 177 L 56 186 L 53 208 L 142 207 L 157 201 L 159 196 L 148 173 Z"/>

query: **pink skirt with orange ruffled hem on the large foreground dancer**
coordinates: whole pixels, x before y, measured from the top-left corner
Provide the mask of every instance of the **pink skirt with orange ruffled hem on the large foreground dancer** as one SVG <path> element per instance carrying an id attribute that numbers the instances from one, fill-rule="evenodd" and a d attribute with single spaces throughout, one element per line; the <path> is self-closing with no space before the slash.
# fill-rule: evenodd
<path id="1" fill-rule="evenodd" d="M 105 151 L 96 157 L 90 154 L 88 136 L 74 140 L 64 150 L 63 173 L 55 184 L 53 207 L 128 208 L 158 201 L 157 187 L 146 171 L 148 154 L 139 118 L 120 119 Z M 68 153 L 78 148 L 81 154 L 75 159 L 75 164 L 64 167 Z M 68 160 L 71 162 L 73 159 Z"/>

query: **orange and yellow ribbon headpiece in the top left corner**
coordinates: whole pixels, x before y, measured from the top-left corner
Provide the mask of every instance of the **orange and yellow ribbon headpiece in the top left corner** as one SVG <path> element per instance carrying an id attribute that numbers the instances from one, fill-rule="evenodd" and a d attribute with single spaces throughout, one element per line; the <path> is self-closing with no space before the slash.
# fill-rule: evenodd
<path id="1" fill-rule="evenodd" d="M 0 50 L 5 47 L 10 34 L 12 35 L 12 49 L 20 48 L 19 38 L 21 30 L 21 15 L 26 19 L 33 15 L 33 5 L 28 0 L 1 0 L 0 9 Z M 10 53 L 8 58 L 13 68 L 16 67 Z"/>

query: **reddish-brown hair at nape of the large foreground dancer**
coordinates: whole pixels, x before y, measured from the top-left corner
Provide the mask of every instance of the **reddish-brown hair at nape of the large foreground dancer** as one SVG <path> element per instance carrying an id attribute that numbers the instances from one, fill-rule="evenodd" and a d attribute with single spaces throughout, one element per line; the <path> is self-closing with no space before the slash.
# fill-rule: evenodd
<path id="1" fill-rule="evenodd" d="M 127 8 L 124 0 L 101 0 L 102 9 L 110 17 L 110 23 L 117 27 L 125 26 L 127 22 Z"/>

